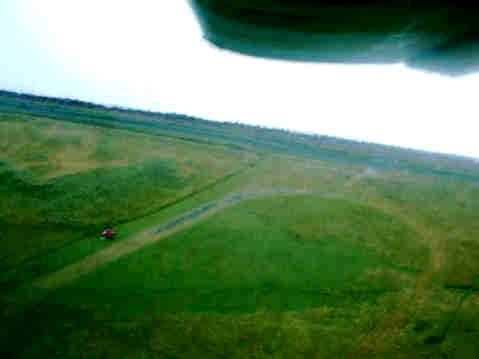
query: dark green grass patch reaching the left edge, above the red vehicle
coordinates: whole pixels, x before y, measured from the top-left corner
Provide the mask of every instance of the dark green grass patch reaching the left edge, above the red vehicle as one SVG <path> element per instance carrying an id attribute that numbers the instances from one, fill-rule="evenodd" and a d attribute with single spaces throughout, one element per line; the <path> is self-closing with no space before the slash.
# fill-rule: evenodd
<path id="1" fill-rule="evenodd" d="M 171 163 L 97 169 L 33 184 L 28 173 L 3 167 L 1 213 L 14 223 L 104 224 L 137 217 L 186 185 Z M 154 197 L 152 195 L 155 194 Z M 139 199 L 147 201 L 140 202 Z M 29 220 L 25 220 L 28 218 Z"/>

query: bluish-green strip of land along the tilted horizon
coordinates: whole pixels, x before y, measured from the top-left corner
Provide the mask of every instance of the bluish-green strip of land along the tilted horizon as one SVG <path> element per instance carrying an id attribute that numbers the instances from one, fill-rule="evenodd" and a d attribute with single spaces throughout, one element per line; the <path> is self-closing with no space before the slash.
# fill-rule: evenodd
<path id="1" fill-rule="evenodd" d="M 210 122 L 177 114 L 65 103 L 68 103 L 68 100 L 0 92 L 0 112 L 3 112 L 0 123 L 1 118 L 18 118 L 20 114 L 30 118 L 48 117 L 67 123 L 93 125 L 97 129 L 123 128 L 127 129 L 128 133 L 145 133 L 162 139 L 182 138 L 188 143 L 221 143 L 242 152 L 266 151 L 312 160 L 321 159 L 335 165 L 370 165 L 387 170 L 408 170 L 422 175 L 440 175 L 465 181 L 479 180 L 479 170 L 474 161 L 459 156 L 412 151 L 328 136 L 309 136 L 285 130 Z"/>

